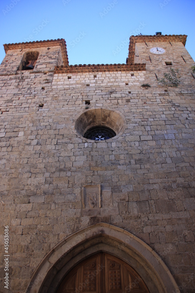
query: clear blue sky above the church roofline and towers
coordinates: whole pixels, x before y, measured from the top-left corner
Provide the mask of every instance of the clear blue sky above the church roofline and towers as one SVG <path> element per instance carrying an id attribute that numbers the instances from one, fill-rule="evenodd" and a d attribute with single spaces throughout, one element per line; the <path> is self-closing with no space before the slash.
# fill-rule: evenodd
<path id="1" fill-rule="evenodd" d="M 0 62 L 3 44 L 64 38 L 69 64 L 125 63 L 130 36 L 157 31 L 188 35 L 195 59 L 194 11 L 194 0 L 1 0 Z"/>

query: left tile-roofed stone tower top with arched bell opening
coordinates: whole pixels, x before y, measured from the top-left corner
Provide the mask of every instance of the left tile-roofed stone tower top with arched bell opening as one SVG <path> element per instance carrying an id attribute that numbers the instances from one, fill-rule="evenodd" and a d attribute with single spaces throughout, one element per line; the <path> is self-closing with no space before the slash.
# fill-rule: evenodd
<path id="1" fill-rule="evenodd" d="M 53 71 L 55 66 L 68 65 L 64 39 L 4 44 L 6 56 L 0 74 L 32 74 Z"/>

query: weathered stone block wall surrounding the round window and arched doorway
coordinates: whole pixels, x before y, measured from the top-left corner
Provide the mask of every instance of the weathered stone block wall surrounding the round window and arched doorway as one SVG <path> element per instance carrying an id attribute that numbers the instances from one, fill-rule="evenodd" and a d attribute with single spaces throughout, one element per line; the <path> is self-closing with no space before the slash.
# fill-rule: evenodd
<path id="1" fill-rule="evenodd" d="M 60 48 L 41 48 L 33 71 L 17 71 L 23 54 L 8 51 L 0 76 L 0 217 L 1 251 L 4 225 L 10 227 L 10 292 L 25 292 L 59 241 L 99 222 L 145 241 L 180 291 L 194 292 L 195 81 L 191 57 L 180 49 L 186 63 L 173 60 L 182 74 L 178 87 L 158 84 L 154 71 L 162 76 L 167 66 L 156 67 L 145 55 L 137 62 L 146 62 L 146 71 L 54 74 L 49 70 L 61 64 Z M 55 56 L 43 68 L 47 54 Z M 105 142 L 75 129 L 82 113 L 99 108 L 124 122 Z M 101 185 L 100 207 L 83 205 L 83 185 Z"/>

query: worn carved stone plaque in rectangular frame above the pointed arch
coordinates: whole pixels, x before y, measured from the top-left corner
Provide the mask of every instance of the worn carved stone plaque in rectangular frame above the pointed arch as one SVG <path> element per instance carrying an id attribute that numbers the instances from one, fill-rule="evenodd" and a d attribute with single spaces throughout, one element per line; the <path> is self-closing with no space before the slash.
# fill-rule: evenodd
<path id="1" fill-rule="evenodd" d="M 101 186 L 83 185 L 83 207 L 84 209 L 98 209 L 101 207 Z"/>

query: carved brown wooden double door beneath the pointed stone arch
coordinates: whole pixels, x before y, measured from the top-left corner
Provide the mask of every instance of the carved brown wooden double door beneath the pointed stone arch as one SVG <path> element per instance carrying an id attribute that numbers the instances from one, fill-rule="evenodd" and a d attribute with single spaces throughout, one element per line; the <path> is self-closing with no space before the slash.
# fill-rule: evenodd
<path id="1" fill-rule="evenodd" d="M 150 293 L 137 272 L 108 253 L 97 253 L 78 264 L 57 293 Z"/>

